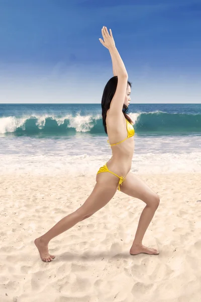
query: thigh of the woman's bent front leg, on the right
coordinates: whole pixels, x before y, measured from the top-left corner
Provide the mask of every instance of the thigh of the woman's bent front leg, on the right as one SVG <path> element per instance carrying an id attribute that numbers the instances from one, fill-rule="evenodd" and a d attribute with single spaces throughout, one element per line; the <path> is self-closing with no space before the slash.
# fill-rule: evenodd
<path id="1" fill-rule="evenodd" d="M 121 191 L 134 198 L 141 199 L 145 203 L 158 198 L 158 195 L 138 176 L 129 172 L 122 183 Z"/>

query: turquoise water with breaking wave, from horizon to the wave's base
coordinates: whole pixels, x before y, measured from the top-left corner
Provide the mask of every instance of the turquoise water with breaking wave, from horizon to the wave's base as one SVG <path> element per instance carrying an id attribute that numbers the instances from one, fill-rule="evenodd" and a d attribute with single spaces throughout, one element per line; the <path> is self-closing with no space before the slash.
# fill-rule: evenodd
<path id="1" fill-rule="evenodd" d="M 201 135 L 201 104 L 131 104 L 138 135 Z M 1 136 L 105 134 L 99 104 L 3 104 Z"/>

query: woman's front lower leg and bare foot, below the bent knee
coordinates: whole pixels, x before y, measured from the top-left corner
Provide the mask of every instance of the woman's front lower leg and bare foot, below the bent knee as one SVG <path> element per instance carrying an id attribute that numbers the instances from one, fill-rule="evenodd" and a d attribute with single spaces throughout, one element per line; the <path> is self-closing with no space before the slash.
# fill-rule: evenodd
<path id="1" fill-rule="evenodd" d="M 140 216 L 140 220 L 138 223 L 138 228 L 136 231 L 135 239 L 133 241 L 133 245 L 131 247 L 130 253 L 132 255 L 136 255 L 139 253 L 147 253 L 147 254 L 158 254 L 158 251 L 151 248 L 146 248 L 142 245 L 142 240 L 145 235 L 145 232 L 154 216 L 154 213 L 157 209 L 157 206 L 148 206 L 146 205 L 142 211 Z"/>

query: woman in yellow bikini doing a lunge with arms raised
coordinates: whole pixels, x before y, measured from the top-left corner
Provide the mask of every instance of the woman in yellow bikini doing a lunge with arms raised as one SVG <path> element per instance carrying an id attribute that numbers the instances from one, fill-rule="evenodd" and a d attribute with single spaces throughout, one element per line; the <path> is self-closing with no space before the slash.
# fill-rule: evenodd
<path id="1" fill-rule="evenodd" d="M 102 98 L 103 123 L 113 156 L 97 172 L 95 187 L 82 206 L 62 218 L 51 230 L 35 240 L 40 257 L 45 262 L 54 259 L 54 256 L 50 255 L 48 251 L 50 240 L 104 207 L 113 198 L 117 189 L 120 190 L 120 186 L 123 193 L 146 203 L 140 216 L 130 254 L 158 254 L 157 250 L 143 246 L 142 240 L 159 205 L 159 196 L 130 172 L 134 153 L 134 129 L 126 111 L 131 100 L 131 84 L 128 82 L 126 68 L 115 46 L 112 31 L 110 30 L 109 34 L 104 26 L 102 35 L 104 40 L 99 39 L 99 41 L 110 51 L 114 72 L 114 77 L 107 83 Z"/>

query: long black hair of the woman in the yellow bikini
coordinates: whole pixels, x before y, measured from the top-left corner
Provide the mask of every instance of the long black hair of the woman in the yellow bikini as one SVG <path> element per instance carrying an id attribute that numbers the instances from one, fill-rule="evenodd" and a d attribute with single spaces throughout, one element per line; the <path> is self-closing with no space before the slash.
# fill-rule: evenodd
<path id="1" fill-rule="evenodd" d="M 115 92 L 117 89 L 117 83 L 118 83 L 118 77 L 116 75 L 115 77 L 111 78 L 108 81 L 108 83 L 106 84 L 106 87 L 105 87 L 104 93 L 103 93 L 103 97 L 102 97 L 102 101 L 101 101 L 103 124 L 104 124 L 104 128 L 105 128 L 105 132 L 107 134 L 108 134 L 108 132 L 107 132 L 107 127 L 106 127 L 106 115 L 107 115 L 108 109 L 110 109 L 111 101 L 115 95 Z M 128 81 L 128 85 L 131 87 L 131 83 L 129 81 Z M 127 111 L 128 111 L 128 106 L 126 106 L 124 104 L 123 108 L 122 108 L 122 112 L 123 112 L 124 116 L 131 124 L 134 124 L 133 121 L 131 120 L 131 118 L 128 116 L 128 114 L 126 114 Z"/>

